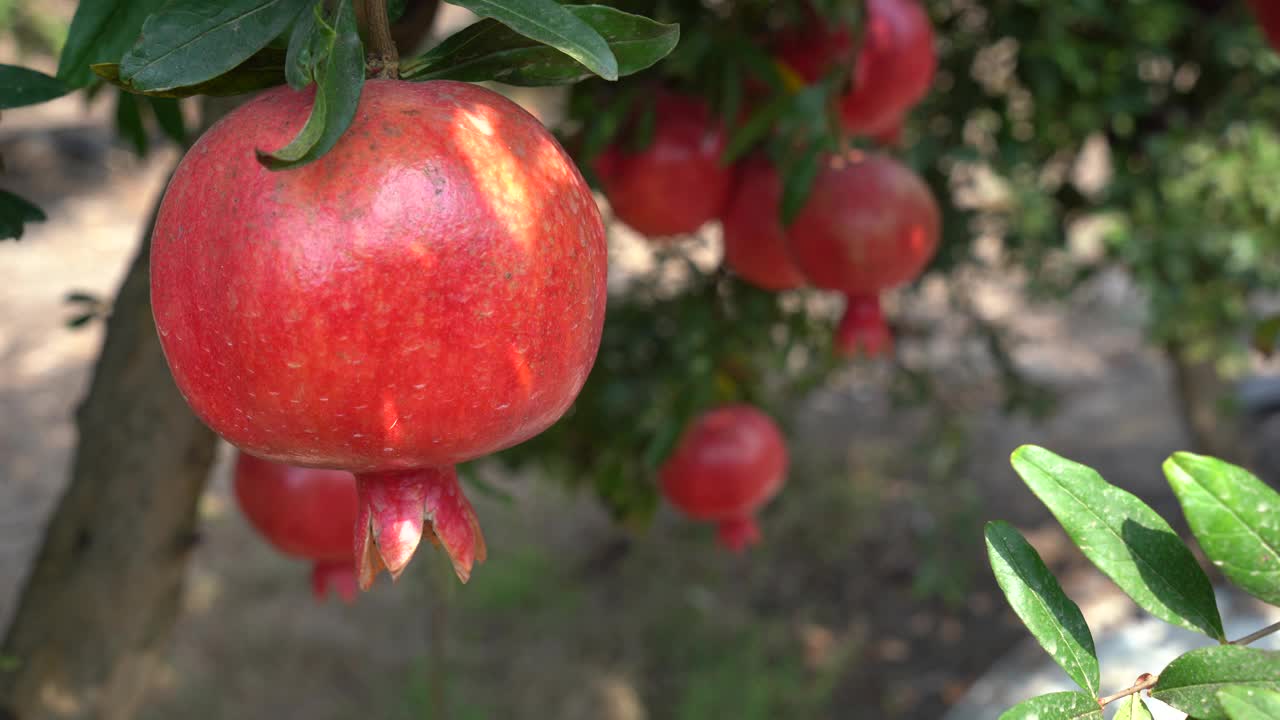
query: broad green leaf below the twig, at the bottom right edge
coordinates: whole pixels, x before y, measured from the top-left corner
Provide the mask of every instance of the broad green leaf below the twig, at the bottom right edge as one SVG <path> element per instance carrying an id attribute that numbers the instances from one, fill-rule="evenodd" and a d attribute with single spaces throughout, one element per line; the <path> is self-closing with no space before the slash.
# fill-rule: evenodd
<path id="1" fill-rule="evenodd" d="M 1197 720 L 1229 720 L 1217 692 L 1231 685 L 1280 691 L 1280 653 L 1234 644 L 1193 650 L 1161 670 L 1151 697 Z"/>

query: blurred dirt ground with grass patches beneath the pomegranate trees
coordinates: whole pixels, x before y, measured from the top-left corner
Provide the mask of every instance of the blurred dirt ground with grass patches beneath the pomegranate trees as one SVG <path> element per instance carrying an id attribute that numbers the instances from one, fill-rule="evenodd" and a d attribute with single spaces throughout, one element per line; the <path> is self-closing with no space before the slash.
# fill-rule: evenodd
<path id="1" fill-rule="evenodd" d="M 101 342 L 100 323 L 64 327 L 63 297 L 110 297 L 175 159 L 114 146 L 109 111 L 61 100 L 0 126 L 0 179 L 50 215 L 0 245 L 0 624 L 64 483 Z M 851 368 L 796 413 L 791 483 L 742 557 L 669 512 L 630 536 L 590 497 L 494 477 L 515 500 L 477 498 L 490 560 L 468 585 L 424 552 L 398 584 L 321 605 L 307 569 L 251 533 L 219 465 L 145 717 L 936 720 L 1025 638 L 986 569 L 983 521 L 1027 529 L 1096 629 L 1132 612 L 1009 452 L 1044 445 L 1171 510 L 1160 462 L 1187 446 L 1121 278 L 1057 309 L 1027 309 L 1014 281 L 979 290 L 1021 338 L 1019 364 L 1060 393 L 1057 413 L 1002 414 L 993 372 L 959 336 L 920 350 L 954 383 L 946 418 L 895 407 L 884 368 Z"/>

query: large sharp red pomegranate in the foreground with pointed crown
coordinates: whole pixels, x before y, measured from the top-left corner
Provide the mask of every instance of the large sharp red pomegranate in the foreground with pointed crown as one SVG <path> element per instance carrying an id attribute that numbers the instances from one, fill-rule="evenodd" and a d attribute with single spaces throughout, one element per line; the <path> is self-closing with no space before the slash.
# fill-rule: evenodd
<path id="1" fill-rule="evenodd" d="M 460 82 L 366 82 L 332 151 L 264 169 L 255 150 L 311 102 L 264 92 L 179 164 L 151 249 L 161 345 L 237 447 L 356 474 L 362 588 L 424 530 L 466 580 L 485 546 L 453 465 L 540 433 L 581 389 L 604 225 L 532 115 Z"/>

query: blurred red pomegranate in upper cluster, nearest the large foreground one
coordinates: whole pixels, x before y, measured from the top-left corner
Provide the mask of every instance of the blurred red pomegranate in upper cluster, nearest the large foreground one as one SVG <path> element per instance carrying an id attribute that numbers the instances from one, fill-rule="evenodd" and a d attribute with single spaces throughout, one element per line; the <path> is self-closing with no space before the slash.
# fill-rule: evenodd
<path id="1" fill-rule="evenodd" d="M 620 220 L 650 238 L 687 234 L 728 201 L 724 128 L 696 97 L 663 92 L 655 113 L 653 142 L 639 152 L 609 147 L 595 168 Z"/>

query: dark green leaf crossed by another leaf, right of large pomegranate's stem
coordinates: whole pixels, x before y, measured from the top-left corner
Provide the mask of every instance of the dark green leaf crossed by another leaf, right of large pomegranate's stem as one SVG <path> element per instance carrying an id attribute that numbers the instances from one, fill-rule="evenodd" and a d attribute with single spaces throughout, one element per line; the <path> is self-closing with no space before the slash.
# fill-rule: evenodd
<path id="1" fill-rule="evenodd" d="M 617 74 L 637 73 L 680 41 L 680 26 L 664 24 L 604 5 L 566 5 L 594 28 L 617 58 Z M 430 51 L 401 63 L 401 79 L 498 81 L 526 87 L 567 85 L 591 76 L 582 63 L 497 22 L 480 20 Z"/>

